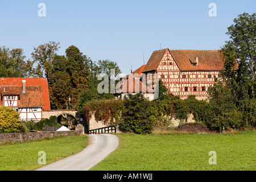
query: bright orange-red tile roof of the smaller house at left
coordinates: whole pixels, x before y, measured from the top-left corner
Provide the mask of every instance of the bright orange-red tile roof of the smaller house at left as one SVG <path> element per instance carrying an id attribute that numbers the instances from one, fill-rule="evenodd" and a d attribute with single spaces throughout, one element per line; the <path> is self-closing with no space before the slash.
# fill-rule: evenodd
<path id="1" fill-rule="evenodd" d="M 22 93 L 22 80 L 26 80 L 26 95 L 20 95 L 20 106 L 44 106 L 44 110 L 50 110 L 47 78 L 0 78 L 1 94 L 3 86 L 7 86 L 10 93 Z M 16 89 L 10 86 L 16 86 Z"/>

